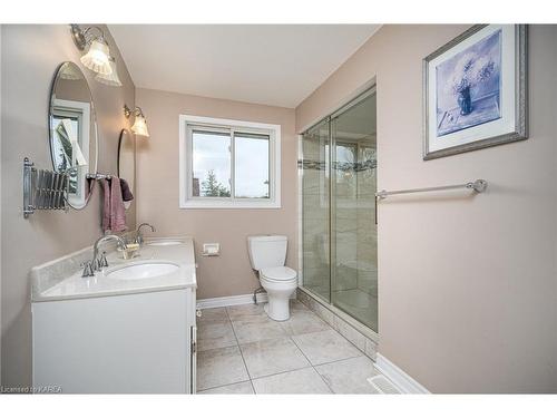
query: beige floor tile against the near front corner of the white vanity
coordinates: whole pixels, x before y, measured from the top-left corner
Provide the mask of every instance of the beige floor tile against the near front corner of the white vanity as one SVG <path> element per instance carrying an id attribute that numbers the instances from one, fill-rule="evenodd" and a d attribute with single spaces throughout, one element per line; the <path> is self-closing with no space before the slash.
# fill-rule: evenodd
<path id="1" fill-rule="evenodd" d="M 197 390 L 248 379 L 238 347 L 226 347 L 197 353 Z"/>

